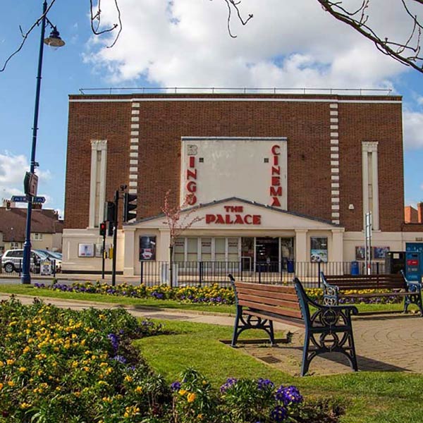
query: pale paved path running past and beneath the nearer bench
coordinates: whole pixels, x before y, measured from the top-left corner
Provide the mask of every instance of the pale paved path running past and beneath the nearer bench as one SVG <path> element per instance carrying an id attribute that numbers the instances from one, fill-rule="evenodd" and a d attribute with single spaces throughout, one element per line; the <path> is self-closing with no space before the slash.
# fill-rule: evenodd
<path id="1" fill-rule="evenodd" d="M 0 294 L 0 300 L 9 298 Z M 33 297 L 16 296 L 24 304 L 30 304 Z M 120 306 L 101 302 L 59 300 L 44 298 L 44 302 L 57 307 L 84 309 L 124 307 L 136 317 L 192 321 L 195 323 L 233 325 L 233 316 L 206 312 L 185 312 L 183 310 L 153 309 L 139 306 Z M 300 373 L 302 360 L 302 329 L 285 324 L 276 324 L 276 329 L 290 331 L 292 342 L 277 347 L 269 344 L 240 344 L 238 350 L 250 354 L 283 372 L 293 375 Z M 353 319 L 355 350 L 358 367 L 362 371 L 417 372 L 423 373 L 423 318 L 419 314 L 381 314 L 355 317 Z M 310 374 L 339 374 L 351 372 L 348 360 L 343 355 L 330 354 L 316 357 L 310 365 Z"/>

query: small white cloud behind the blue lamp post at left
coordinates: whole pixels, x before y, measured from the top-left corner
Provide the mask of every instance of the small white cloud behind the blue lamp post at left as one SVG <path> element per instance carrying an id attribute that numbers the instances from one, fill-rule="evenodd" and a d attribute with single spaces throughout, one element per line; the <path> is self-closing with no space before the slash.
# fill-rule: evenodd
<path id="1" fill-rule="evenodd" d="M 11 152 L 0 153 L 0 197 L 10 198 L 12 195 L 23 195 L 23 178 L 30 170 L 27 158 L 23 154 L 14 155 Z M 39 184 L 51 178 L 47 171 L 36 171 Z"/>

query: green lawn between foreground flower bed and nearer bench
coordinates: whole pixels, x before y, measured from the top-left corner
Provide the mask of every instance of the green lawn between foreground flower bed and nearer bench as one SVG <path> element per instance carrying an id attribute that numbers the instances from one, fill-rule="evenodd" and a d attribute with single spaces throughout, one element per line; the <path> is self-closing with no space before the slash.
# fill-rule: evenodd
<path id="1" fill-rule="evenodd" d="M 169 382 L 195 367 L 217 388 L 226 378 L 269 378 L 294 384 L 305 396 L 333 396 L 348 403 L 344 423 L 422 423 L 423 376 L 403 372 L 358 372 L 335 376 L 293 377 L 219 342 L 231 339 L 231 328 L 181 321 L 161 321 L 171 335 L 137 341 L 136 345 Z M 242 337 L 263 338 L 248 331 Z M 318 422 L 316 422 L 318 423 Z"/>

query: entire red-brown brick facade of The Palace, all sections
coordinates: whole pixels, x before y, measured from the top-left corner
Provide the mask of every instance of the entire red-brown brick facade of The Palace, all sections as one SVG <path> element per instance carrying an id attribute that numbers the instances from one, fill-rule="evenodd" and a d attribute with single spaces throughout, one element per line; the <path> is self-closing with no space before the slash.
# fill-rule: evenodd
<path id="1" fill-rule="evenodd" d="M 102 97 L 130 99 L 132 96 Z M 178 94 L 177 97 L 206 96 Z M 239 97 L 246 99 L 257 96 Z M 260 97 L 266 98 L 266 96 Z M 268 97 L 295 98 L 286 95 Z M 298 97 L 325 98 L 334 102 L 337 99 L 363 99 L 338 96 Z M 90 97 L 71 96 L 71 98 Z M 400 97 L 388 97 L 388 99 L 398 101 Z M 228 136 L 287 137 L 288 210 L 331 221 L 329 104 L 329 102 L 312 101 L 140 102 L 138 218 L 158 214 L 168 189 L 172 190 L 173 201 L 178 201 L 180 137 Z M 70 103 L 66 228 L 85 228 L 88 225 L 90 140 L 108 140 L 106 199 L 112 199 L 114 190 L 119 185 L 128 184 L 130 110 L 130 102 Z M 379 141 L 381 230 L 400 231 L 400 224 L 403 222 L 400 104 L 340 103 L 338 111 L 341 225 L 347 230 L 362 229 L 361 143 L 376 140 Z M 348 210 L 348 204 L 355 204 L 355 209 Z"/>

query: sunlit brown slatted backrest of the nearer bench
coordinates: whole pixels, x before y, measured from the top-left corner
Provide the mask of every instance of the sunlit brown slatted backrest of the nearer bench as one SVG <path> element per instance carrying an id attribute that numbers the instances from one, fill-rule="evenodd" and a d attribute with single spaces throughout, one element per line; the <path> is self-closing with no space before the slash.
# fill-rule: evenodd
<path id="1" fill-rule="evenodd" d="M 293 286 L 233 282 L 237 305 L 259 309 L 278 316 L 302 319 L 297 293 Z"/>

